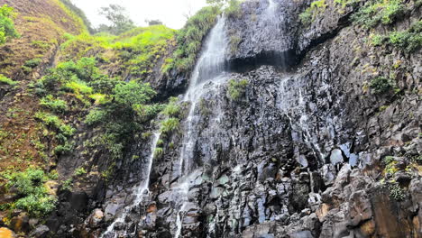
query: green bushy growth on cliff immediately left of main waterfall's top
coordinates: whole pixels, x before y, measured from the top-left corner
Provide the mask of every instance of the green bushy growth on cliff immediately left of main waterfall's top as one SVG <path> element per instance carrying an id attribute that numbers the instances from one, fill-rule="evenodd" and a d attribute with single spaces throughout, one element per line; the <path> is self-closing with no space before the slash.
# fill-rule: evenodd
<path id="1" fill-rule="evenodd" d="M 216 16 L 220 14 L 218 6 L 206 6 L 197 14 L 190 17 L 185 27 L 177 33 L 177 47 L 172 58 L 166 59 L 166 64 L 161 70 L 168 72 L 170 69 L 188 71 L 195 65 L 197 53 L 206 33 L 216 23 Z"/>

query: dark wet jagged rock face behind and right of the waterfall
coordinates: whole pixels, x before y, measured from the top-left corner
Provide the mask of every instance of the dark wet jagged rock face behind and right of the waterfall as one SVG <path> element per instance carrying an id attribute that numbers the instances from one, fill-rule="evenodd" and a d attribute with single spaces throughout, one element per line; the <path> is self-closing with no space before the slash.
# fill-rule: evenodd
<path id="1" fill-rule="evenodd" d="M 357 6 L 339 13 L 326 2 L 328 14 L 307 28 L 300 1 L 250 1 L 227 19 L 236 72 L 201 87 L 194 119 L 166 139 L 149 193 L 110 237 L 420 237 L 420 50 L 374 48 L 348 21 Z M 415 19 L 419 9 L 397 27 Z M 368 87 L 391 74 L 395 93 Z M 240 96 L 230 80 L 247 81 Z M 193 156 L 182 177 L 188 130 Z M 146 148 L 133 146 L 145 158 Z M 87 198 L 90 215 L 72 235 L 98 236 L 131 205 L 142 163 L 119 165 L 123 175 L 101 199 Z"/>

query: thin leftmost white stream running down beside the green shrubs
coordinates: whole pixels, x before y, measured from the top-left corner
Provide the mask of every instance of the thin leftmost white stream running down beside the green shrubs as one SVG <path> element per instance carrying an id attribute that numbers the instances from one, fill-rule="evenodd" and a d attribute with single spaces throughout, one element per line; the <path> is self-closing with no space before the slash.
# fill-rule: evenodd
<path id="1" fill-rule="evenodd" d="M 135 195 L 135 198 L 133 199 L 132 204 L 124 208 L 124 211 L 122 212 L 122 214 L 119 215 L 119 217 L 117 217 L 115 221 L 107 227 L 107 230 L 105 231 L 105 233 L 101 235 L 101 237 L 117 237 L 117 233 L 115 233 L 115 224 L 124 223 L 124 219 L 132 211 L 133 207 L 138 206 L 142 202 L 142 199 L 145 193 L 149 192 L 152 161 L 154 159 L 154 151 L 155 151 L 155 148 L 157 147 L 157 143 L 160 139 L 160 135 L 161 133 L 159 132 L 155 132 L 152 134 L 151 151 L 150 151 L 150 156 L 148 157 L 148 160 L 147 160 L 147 168 L 144 174 L 145 177 L 144 177 L 144 180 L 141 182 L 141 184 L 138 187 L 133 189 L 133 194 Z M 126 235 L 126 231 L 124 231 L 124 235 Z"/>

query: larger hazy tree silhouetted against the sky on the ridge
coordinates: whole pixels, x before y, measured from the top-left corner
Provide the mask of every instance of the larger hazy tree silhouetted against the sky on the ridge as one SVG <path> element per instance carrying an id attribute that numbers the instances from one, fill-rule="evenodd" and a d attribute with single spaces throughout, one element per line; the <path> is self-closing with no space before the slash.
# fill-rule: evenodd
<path id="1" fill-rule="evenodd" d="M 100 31 L 118 35 L 135 27 L 133 21 L 126 14 L 126 9 L 121 5 L 101 7 L 99 14 L 104 15 L 105 18 L 112 23 L 111 26 L 105 24 L 100 25 L 98 28 Z"/>

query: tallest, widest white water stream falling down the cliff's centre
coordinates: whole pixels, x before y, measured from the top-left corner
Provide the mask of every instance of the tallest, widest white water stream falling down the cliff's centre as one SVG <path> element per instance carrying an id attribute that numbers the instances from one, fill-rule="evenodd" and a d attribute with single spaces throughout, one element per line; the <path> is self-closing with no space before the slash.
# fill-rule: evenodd
<path id="1" fill-rule="evenodd" d="M 227 49 L 227 37 L 225 34 L 225 18 L 219 17 L 216 26 L 209 33 L 205 48 L 190 78 L 188 91 L 184 96 L 184 101 L 190 102 L 188 117 L 185 123 L 185 134 L 179 157 L 179 177 L 180 186 L 173 188 L 173 193 L 177 194 L 179 201 L 176 201 L 176 208 L 179 207 L 176 217 L 175 238 L 179 238 L 182 232 L 183 214 L 188 206 L 188 189 L 192 179 L 197 178 L 193 161 L 195 140 L 197 135 L 195 126 L 198 121 L 196 115 L 197 103 L 205 93 L 213 92 L 225 81 L 225 51 Z"/>

